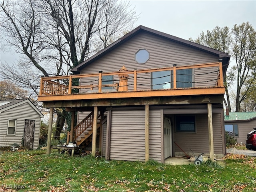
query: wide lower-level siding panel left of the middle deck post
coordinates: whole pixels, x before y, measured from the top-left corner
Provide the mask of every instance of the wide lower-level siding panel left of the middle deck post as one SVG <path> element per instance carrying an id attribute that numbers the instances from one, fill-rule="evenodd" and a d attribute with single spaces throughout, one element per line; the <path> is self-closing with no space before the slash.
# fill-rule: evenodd
<path id="1" fill-rule="evenodd" d="M 110 159 L 145 160 L 145 111 L 112 110 Z"/>

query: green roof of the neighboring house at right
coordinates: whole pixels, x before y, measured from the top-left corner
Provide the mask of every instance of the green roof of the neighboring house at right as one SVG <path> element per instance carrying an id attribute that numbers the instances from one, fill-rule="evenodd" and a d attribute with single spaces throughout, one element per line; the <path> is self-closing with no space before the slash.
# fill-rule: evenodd
<path id="1" fill-rule="evenodd" d="M 225 116 L 225 121 L 251 121 L 256 119 L 256 112 L 229 112 L 229 115 Z"/>

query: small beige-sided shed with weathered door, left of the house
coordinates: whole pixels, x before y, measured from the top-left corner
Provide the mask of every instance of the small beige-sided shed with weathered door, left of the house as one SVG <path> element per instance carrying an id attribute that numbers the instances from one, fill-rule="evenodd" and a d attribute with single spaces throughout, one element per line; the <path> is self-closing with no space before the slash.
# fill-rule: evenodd
<path id="1" fill-rule="evenodd" d="M 29 99 L 0 101 L 0 146 L 37 149 L 42 117 Z"/>

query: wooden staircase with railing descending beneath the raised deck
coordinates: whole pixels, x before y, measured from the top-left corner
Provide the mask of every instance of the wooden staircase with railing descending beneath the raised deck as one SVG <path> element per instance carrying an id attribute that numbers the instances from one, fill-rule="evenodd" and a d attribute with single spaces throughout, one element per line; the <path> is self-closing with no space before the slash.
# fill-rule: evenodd
<path id="1" fill-rule="evenodd" d="M 100 118 L 101 115 L 98 115 L 97 119 Z M 100 134 L 100 125 L 106 122 L 107 118 L 103 118 L 103 120 L 97 123 L 97 135 Z M 86 146 L 90 142 L 92 142 L 92 125 L 93 125 L 93 112 L 88 114 L 86 118 L 84 118 L 76 127 L 74 127 L 73 132 L 73 141 L 76 142 L 76 146 Z M 67 142 L 70 141 L 70 132 L 67 135 Z"/>

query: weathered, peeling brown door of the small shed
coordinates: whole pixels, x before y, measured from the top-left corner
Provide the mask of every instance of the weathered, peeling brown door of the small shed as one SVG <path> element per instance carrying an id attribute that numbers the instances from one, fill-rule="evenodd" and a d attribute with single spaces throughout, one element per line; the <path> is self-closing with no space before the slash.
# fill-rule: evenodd
<path id="1" fill-rule="evenodd" d="M 24 146 L 28 149 L 33 149 L 35 132 L 35 120 L 25 120 L 24 128 Z"/>

